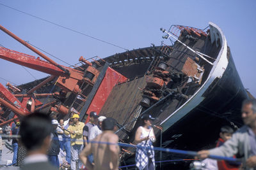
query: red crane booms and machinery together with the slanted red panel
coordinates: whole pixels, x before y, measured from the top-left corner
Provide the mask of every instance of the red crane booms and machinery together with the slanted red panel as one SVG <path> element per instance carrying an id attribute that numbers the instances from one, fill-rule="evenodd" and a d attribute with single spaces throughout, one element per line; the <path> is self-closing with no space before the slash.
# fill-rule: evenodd
<path id="1" fill-rule="evenodd" d="M 39 89 L 40 87 L 45 85 L 45 83 L 54 80 L 54 78 L 56 80 L 54 80 L 55 85 L 58 85 L 58 87 L 61 88 L 61 94 L 73 92 L 75 94 L 79 94 L 79 96 L 83 96 L 80 89 L 83 86 L 83 84 L 87 84 L 86 88 L 88 88 L 88 86 L 93 86 L 95 84 L 99 76 L 99 70 L 97 69 L 97 64 L 99 65 L 99 63 L 97 62 L 97 60 L 91 63 L 88 60 L 83 59 L 83 57 L 80 57 L 79 61 L 84 62 L 86 64 L 85 69 L 81 67 L 72 68 L 61 66 L 60 64 L 57 64 L 53 60 L 49 59 L 49 57 L 44 55 L 44 53 L 41 53 L 38 50 L 36 50 L 36 48 L 29 45 L 29 43 L 27 43 L 26 41 L 15 36 L 15 34 L 8 31 L 1 25 L 0 29 L 6 32 L 6 34 L 12 36 L 12 38 L 22 43 L 22 45 L 28 47 L 30 50 L 40 55 L 40 57 L 44 58 L 45 60 L 40 59 L 40 57 L 34 57 L 26 53 L 16 52 L 14 50 L 10 50 L 8 48 L 3 47 L 0 47 L 0 59 L 9 60 L 10 62 L 14 62 L 21 66 L 26 66 L 37 71 L 42 71 L 44 73 L 51 74 L 49 78 L 42 81 L 42 83 L 36 85 L 36 87 L 26 92 L 26 94 L 12 94 L 7 89 L 5 89 L 3 85 L 0 85 L 0 90 L 6 92 L 6 94 L 3 94 L 2 96 L 0 94 L 0 104 L 3 104 L 4 106 L 10 108 L 16 114 L 15 117 L 12 118 L 12 121 L 17 119 L 16 117 L 20 117 L 35 111 L 38 108 L 37 106 L 40 106 L 42 104 L 35 99 L 36 96 L 42 96 L 42 94 L 33 94 L 33 92 L 36 89 Z M 116 83 L 127 81 L 127 78 L 125 78 L 125 76 L 122 76 L 122 74 L 116 72 L 110 67 L 106 69 L 105 73 L 106 76 L 104 76 L 104 78 L 100 78 L 102 80 L 102 83 L 100 83 L 100 85 L 97 86 L 98 91 L 95 93 L 95 97 L 93 97 L 92 101 L 90 101 L 91 104 L 90 107 L 88 107 L 88 111 L 95 110 L 99 112 L 102 106 L 104 105 L 106 99 L 108 98 L 109 93 L 116 85 Z M 9 89 L 11 89 L 13 92 L 19 92 L 19 89 L 12 87 L 10 85 Z M 20 102 L 15 96 L 22 97 L 22 101 Z M 86 96 L 83 97 L 83 100 L 86 101 Z M 29 110 L 27 108 L 28 103 L 31 103 Z M 48 103 L 46 105 L 49 106 L 49 104 L 52 103 Z M 61 103 L 54 105 L 54 107 L 51 108 L 51 111 L 58 111 L 60 113 L 67 114 L 69 108 L 63 106 L 63 104 Z M 7 120 L 6 122 L 10 121 L 11 120 Z M 6 124 L 6 122 L 3 122 L 2 124 L 0 124 L 0 126 Z"/>

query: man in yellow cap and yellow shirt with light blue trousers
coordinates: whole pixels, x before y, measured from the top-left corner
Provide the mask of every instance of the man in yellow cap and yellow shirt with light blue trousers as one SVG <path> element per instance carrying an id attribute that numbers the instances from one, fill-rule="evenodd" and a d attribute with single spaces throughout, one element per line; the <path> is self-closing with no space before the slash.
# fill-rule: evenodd
<path id="1" fill-rule="evenodd" d="M 70 134 L 71 139 L 71 169 L 76 169 L 76 162 L 78 162 L 79 168 L 82 166 L 81 160 L 79 160 L 79 153 L 83 150 L 83 127 L 84 123 L 79 122 L 79 115 L 74 114 L 71 117 L 73 124 L 68 126 L 65 134 Z"/>

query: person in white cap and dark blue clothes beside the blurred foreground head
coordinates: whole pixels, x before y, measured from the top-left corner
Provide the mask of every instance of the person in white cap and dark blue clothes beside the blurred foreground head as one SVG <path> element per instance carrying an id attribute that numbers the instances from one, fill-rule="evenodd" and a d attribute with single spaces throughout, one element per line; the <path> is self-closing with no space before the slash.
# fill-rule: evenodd
<path id="1" fill-rule="evenodd" d="M 51 146 L 48 151 L 48 157 L 51 164 L 60 168 L 58 155 L 60 153 L 60 141 L 57 134 L 58 120 L 52 120 Z"/>

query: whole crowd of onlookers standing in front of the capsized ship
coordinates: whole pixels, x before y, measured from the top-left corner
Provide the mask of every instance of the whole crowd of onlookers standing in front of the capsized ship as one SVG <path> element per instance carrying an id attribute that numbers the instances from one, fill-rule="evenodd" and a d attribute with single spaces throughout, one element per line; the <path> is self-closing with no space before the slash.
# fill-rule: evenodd
<path id="1" fill-rule="evenodd" d="M 20 134 L 20 142 L 12 138 L 13 165 L 17 164 L 18 146 L 26 148 L 26 157 L 20 169 L 118 169 L 120 147 L 116 120 L 90 113 L 86 124 L 79 122 L 79 114 L 70 113 L 64 121 L 50 118 L 42 113 L 32 113 L 21 122 L 7 125 L 6 134 Z M 246 99 L 241 108 L 244 125 L 236 132 L 225 125 L 220 129 L 216 148 L 197 152 L 197 157 L 205 162 L 204 169 L 256 169 L 256 100 Z M 136 166 L 138 169 L 155 169 L 154 146 L 156 141 L 151 115 L 141 115 L 141 126 L 136 130 Z M 3 129 L 0 128 L 0 137 Z M 2 153 L 0 138 L 0 158 Z M 65 155 L 65 160 L 60 160 Z M 218 155 L 234 157 L 240 162 L 212 160 Z"/>

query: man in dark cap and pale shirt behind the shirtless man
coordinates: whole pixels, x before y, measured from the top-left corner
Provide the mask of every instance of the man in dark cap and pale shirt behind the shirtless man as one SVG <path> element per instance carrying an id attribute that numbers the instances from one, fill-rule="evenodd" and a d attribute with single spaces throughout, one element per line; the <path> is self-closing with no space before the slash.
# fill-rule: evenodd
<path id="1" fill-rule="evenodd" d="M 91 111 L 90 120 L 87 124 L 84 125 L 83 129 L 83 139 L 84 139 L 84 147 L 87 145 L 87 140 L 90 139 L 91 129 L 95 126 L 98 115 L 95 111 Z"/>

